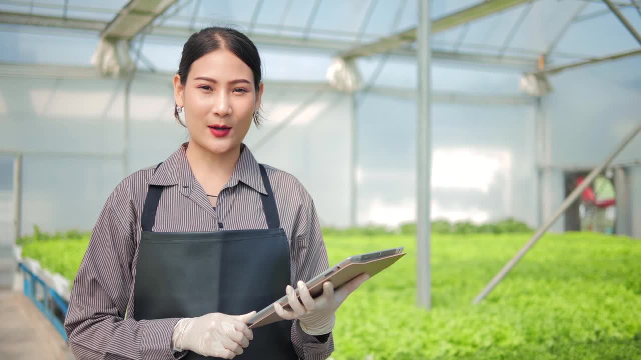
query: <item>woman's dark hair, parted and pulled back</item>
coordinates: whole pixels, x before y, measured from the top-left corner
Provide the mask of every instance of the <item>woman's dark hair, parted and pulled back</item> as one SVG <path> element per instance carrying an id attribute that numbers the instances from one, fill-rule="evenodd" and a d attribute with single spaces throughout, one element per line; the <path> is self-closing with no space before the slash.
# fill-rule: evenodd
<path id="1" fill-rule="evenodd" d="M 235 29 L 218 26 L 204 28 L 192 34 L 187 42 L 185 42 L 183 54 L 180 58 L 180 65 L 178 66 L 180 83 L 183 86 L 187 83 L 187 76 L 194 61 L 218 49 L 231 51 L 249 66 L 249 69 L 254 73 L 254 87 L 258 93 L 260 81 L 262 80 L 262 72 L 260 69 L 260 55 L 258 54 L 256 45 L 254 45 L 244 33 Z M 178 106 L 178 104 L 175 105 Z M 176 120 L 178 120 L 182 126 L 185 126 L 185 124 L 180 121 L 176 107 L 174 107 L 174 117 L 176 117 Z M 256 112 L 254 112 L 254 124 L 258 126 L 261 119 L 262 115 L 260 114 L 260 110 L 256 110 Z"/>

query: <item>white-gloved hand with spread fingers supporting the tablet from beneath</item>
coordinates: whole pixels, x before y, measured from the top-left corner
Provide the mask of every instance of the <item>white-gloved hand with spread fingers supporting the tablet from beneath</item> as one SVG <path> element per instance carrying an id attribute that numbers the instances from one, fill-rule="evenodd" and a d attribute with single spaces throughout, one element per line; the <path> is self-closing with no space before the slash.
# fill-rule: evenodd
<path id="1" fill-rule="evenodd" d="M 324 335 L 331 332 L 334 328 L 335 316 L 340 304 L 342 304 L 347 296 L 351 294 L 360 284 L 369 279 L 369 275 L 362 274 L 347 282 L 340 289 L 334 291 L 334 286 L 331 282 L 326 281 L 323 284 L 322 295 L 312 299 L 310 290 L 303 281 L 298 282 L 298 291 L 301 295 L 301 300 L 297 299 L 296 292 L 292 286 L 287 285 L 285 292 L 291 310 L 285 310 L 283 307 L 274 303 L 274 309 L 278 316 L 285 320 L 298 319 L 301 323 L 301 329 L 310 335 Z M 302 302 L 302 304 L 301 304 Z"/>

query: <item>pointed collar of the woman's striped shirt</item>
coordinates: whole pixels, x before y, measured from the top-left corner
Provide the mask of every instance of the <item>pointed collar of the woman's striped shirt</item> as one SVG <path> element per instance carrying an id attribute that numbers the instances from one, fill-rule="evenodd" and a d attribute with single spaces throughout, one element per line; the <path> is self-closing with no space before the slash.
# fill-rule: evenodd
<path id="1" fill-rule="evenodd" d="M 162 165 L 154 172 L 150 185 L 171 186 L 180 184 L 183 189 L 187 190 L 186 195 L 193 187 L 196 177 L 192 173 L 187 161 L 187 144 L 183 143 Z M 263 179 L 260 176 L 260 167 L 258 161 L 244 143 L 240 144 L 240 157 L 234 167 L 228 183 L 223 188 L 236 186 L 238 182 L 250 186 L 257 192 L 267 194 Z"/>

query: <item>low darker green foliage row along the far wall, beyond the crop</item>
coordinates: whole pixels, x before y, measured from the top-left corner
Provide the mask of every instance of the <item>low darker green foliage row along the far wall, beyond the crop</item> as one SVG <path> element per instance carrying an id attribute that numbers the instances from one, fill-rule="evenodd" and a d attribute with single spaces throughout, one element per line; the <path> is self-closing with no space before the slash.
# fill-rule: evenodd
<path id="1" fill-rule="evenodd" d="M 431 233 L 433 234 L 515 234 L 531 233 L 532 231 L 527 224 L 513 218 L 506 218 L 487 224 L 474 224 L 470 221 L 449 222 L 447 220 L 434 220 L 431 222 Z M 323 227 L 322 233 L 324 236 L 414 235 L 416 234 L 416 223 L 408 222 L 395 229 L 381 225 L 350 227 L 347 229 Z"/>

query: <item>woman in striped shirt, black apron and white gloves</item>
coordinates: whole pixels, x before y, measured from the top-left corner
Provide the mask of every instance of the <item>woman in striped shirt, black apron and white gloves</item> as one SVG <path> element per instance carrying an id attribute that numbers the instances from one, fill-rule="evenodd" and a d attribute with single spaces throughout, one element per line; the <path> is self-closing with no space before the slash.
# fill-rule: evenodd
<path id="1" fill-rule="evenodd" d="M 312 299 L 302 281 L 328 268 L 312 198 L 259 165 L 242 143 L 263 94 L 245 35 L 206 28 L 183 47 L 176 117 L 189 141 L 128 176 L 106 201 L 65 319 L 83 359 L 324 359 L 335 311 L 367 275 Z M 296 299 L 296 284 L 301 300 Z M 250 330 L 287 294 L 286 321 Z"/>

